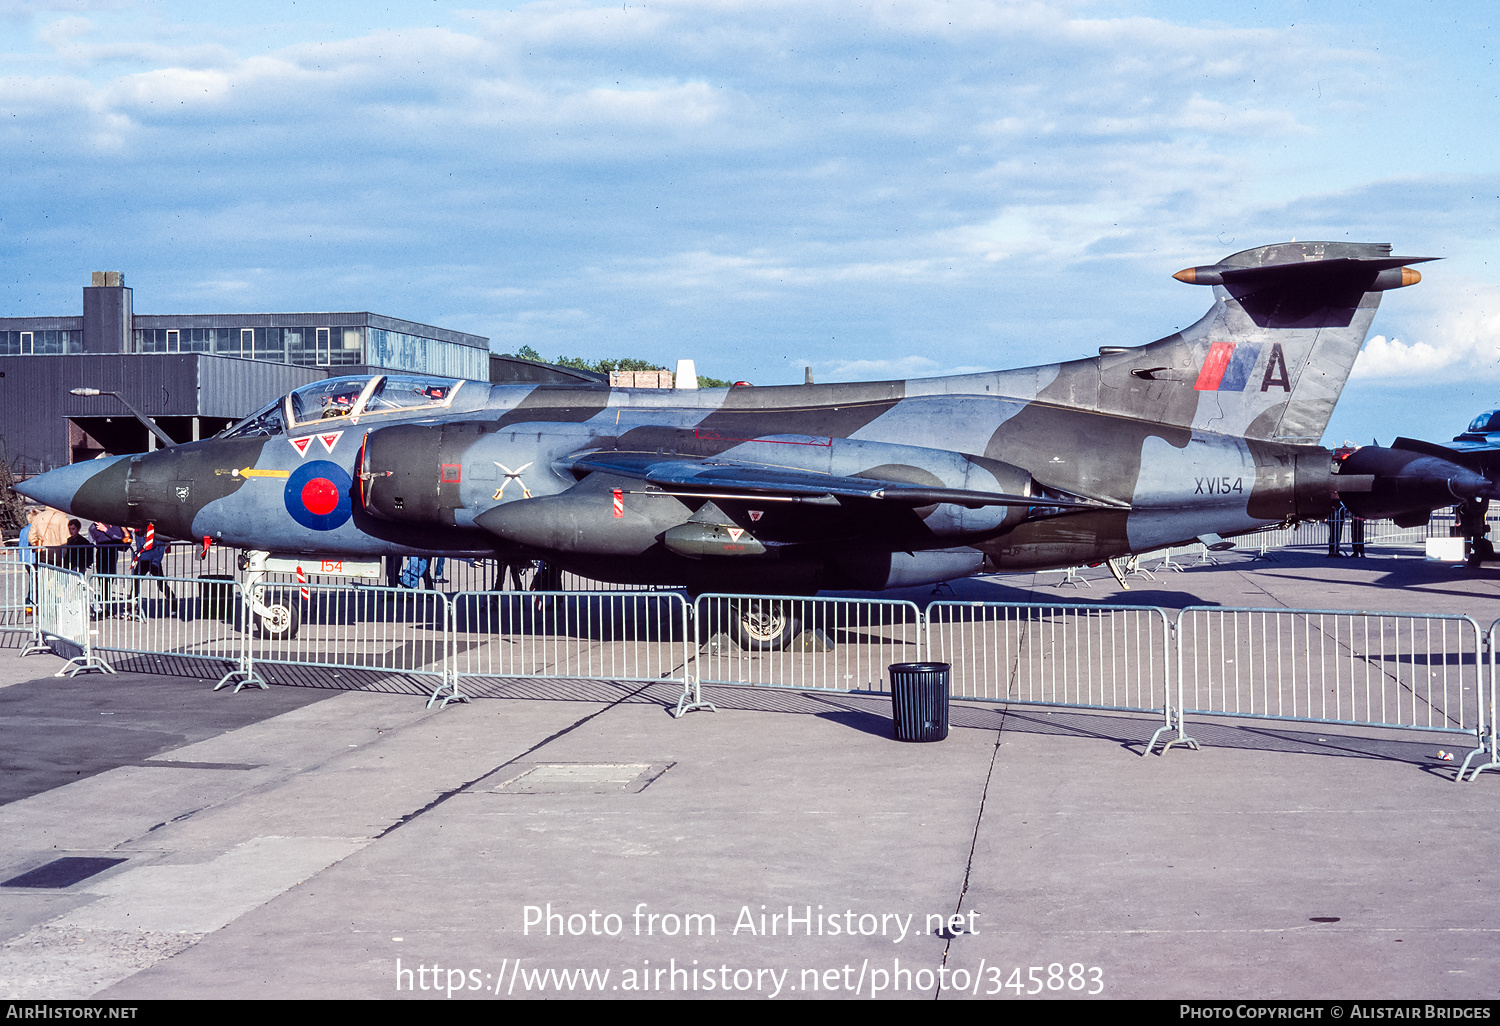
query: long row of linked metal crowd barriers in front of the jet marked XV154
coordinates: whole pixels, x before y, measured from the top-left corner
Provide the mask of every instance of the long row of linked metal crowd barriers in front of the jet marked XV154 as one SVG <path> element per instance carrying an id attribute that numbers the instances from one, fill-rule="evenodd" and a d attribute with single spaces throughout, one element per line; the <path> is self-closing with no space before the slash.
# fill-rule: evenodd
<path id="1" fill-rule="evenodd" d="M 0 566 L 3 604 L 24 609 L 22 588 L 22 654 L 81 652 L 58 675 L 182 658 L 238 690 L 315 666 L 424 680 L 429 705 L 466 700 L 480 676 L 676 681 L 681 714 L 712 708 L 702 684 L 885 693 L 890 664 L 934 660 L 958 699 L 1161 716 L 1146 752 L 1170 730 L 1162 752 L 1197 747 L 1191 717 L 1250 717 L 1470 736 L 1458 778 L 1500 770 L 1500 621 L 1461 615 L 1194 606 L 1173 622 L 1155 606 L 272 582 L 262 621 L 237 580 Z"/>

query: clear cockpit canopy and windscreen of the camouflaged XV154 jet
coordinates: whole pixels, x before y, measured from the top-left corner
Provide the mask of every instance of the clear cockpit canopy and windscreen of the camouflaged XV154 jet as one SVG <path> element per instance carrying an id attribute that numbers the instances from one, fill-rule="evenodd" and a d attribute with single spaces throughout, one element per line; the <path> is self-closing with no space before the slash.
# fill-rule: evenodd
<path id="1" fill-rule="evenodd" d="M 348 418 L 350 423 L 358 423 L 363 417 L 382 414 L 447 410 L 462 386 L 464 381 L 458 378 L 414 374 L 314 381 L 231 424 L 219 438 L 280 435 L 328 420 Z"/>

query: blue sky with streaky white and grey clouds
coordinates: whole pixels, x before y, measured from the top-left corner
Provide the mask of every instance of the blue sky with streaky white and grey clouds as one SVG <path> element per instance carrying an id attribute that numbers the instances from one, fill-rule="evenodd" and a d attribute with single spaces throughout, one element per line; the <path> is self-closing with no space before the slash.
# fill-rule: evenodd
<path id="1" fill-rule="evenodd" d="M 759 384 L 1092 354 L 1443 256 L 1329 441 L 1500 406 L 1492 4 L 0 0 L 0 315 L 372 309 Z"/>

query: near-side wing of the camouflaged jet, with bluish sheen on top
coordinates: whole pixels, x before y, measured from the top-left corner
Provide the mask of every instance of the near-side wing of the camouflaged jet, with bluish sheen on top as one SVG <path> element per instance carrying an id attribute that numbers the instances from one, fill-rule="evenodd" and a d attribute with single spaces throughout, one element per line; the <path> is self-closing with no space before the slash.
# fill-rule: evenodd
<path id="1" fill-rule="evenodd" d="M 1047 506 L 1058 508 L 1098 508 L 1102 502 L 1053 495 L 1006 495 L 966 488 L 928 488 L 876 477 L 840 477 L 789 466 L 744 464 L 712 456 L 663 456 L 603 450 L 576 453 L 562 465 L 574 474 L 604 471 L 618 477 L 656 484 L 669 494 L 702 498 L 801 500 L 837 502 L 872 500 L 898 506 L 954 502 L 970 508 L 982 506 Z"/>

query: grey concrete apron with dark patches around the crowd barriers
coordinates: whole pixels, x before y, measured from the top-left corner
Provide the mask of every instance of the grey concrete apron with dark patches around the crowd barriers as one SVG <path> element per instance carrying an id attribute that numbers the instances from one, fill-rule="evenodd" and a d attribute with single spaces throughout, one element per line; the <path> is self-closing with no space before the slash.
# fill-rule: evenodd
<path id="1" fill-rule="evenodd" d="M 1500 616 L 1500 570 L 1378 554 L 1088 578 L 957 594 Z M 4 638 L 0 996 L 1500 988 L 1500 774 L 1455 783 L 1454 735 L 1204 720 L 1143 756 L 1146 716 L 956 704 L 900 744 L 882 696 L 674 720 L 674 686 L 518 680 L 429 711 L 314 672 L 58 680 Z"/>

